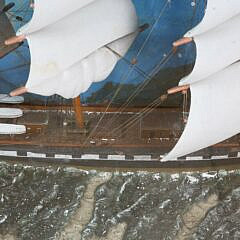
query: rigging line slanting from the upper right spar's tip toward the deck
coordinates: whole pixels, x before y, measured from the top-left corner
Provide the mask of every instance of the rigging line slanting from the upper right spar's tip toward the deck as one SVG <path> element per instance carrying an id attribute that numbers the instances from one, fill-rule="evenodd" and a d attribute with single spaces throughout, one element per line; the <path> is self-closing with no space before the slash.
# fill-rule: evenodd
<path id="1" fill-rule="evenodd" d="M 131 96 L 127 99 L 126 103 L 123 104 L 123 106 L 120 107 L 120 109 L 118 110 L 118 112 L 113 113 L 114 116 L 109 120 L 109 122 L 107 123 L 107 125 L 109 126 L 110 124 L 112 124 L 114 121 L 117 120 L 117 116 L 119 114 L 121 114 L 128 106 L 129 104 L 135 99 L 135 97 L 147 86 L 147 84 L 153 79 L 151 78 L 151 76 L 154 76 L 159 70 L 160 67 L 164 66 L 167 61 L 170 60 L 170 58 L 173 56 L 173 54 L 175 54 L 175 51 L 171 50 L 167 57 L 163 59 L 163 61 L 161 61 L 154 69 L 153 71 L 150 73 L 150 76 L 148 76 L 148 79 L 146 79 L 142 84 L 140 84 L 137 89 L 131 94 Z"/>

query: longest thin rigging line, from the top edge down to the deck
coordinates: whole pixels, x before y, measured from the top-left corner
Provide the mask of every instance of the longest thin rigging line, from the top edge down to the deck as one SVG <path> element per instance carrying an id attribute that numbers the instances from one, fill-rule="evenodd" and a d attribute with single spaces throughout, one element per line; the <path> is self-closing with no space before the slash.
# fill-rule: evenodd
<path id="1" fill-rule="evenodd" d="M 164 7 L 163 7 L 162 10 L 160 11 L 158 18 L 156 19 L 154 25 L 152 26 L 152 29 L 151 29 L 151 31 L 149 32 L 147 38 L 146 38 L 145 41 L 143 42 L 143 45 L 142 45 L 141 48 L 139 49 L 136 57 L 139 57 L 140 54 L 142 53 L 142 51 L 144 50 L 144 48 L 145 48 L 148 40 L 150 39 L 150 37 L 151 37 L 151 35 L 152 35 L 152 33 L 153 33 L 153 30 L 154 30 L 155 27 L 157 26 L 160 18 L 162 17 L 162 15 L 163 15 L 163 13 L 165 12 L 168 4 L 170 4 L 170 3 L 171 3 L 171 0 L 166 0 L 166 3 L 165 3 L 165 5 L 164 5 Z M 126 81 L 128 80 L 129 76 L 130 76 L 130 75 L 132 74 L 132 72 L 133 72 L 133 69 L 134 69 L 134 66 L 131 67 L 131 69 L 128 71 L 128 74 L 126 75 L 126 78 L 125 78 L 125 79 L 122 78 L 122 79 L 124 79 L 124 81 L 123 81 L 122 83 L 124 83 L 124 82 L 126 82 Z M 90 134 L 88 135 L 88 137 L 87 137 L 86 140 L 84 141 L 83 145 L 85 145 L 85 144 L 87 143 L 87 141 L 91 138 L 91 136 L 92 136 L 92 135 L 94 134 L 94 132 L 97 130 L 99 124 L 102 122 L 104 116 L 106 115 L 108 109 L 110 108 L 111 104 L 113 103 L 114 99 L 117 97 L 117 95 L 118 95 L 118 93 L 120 92 L 120 90 L 121 90 L 122 87 L 123 87 L 122 85 L 120 85 L 120 86 L 118 87 L 118 89 L 116 90 L 116 92 L 115 92 L 112 100 L 109 102 L 108 106 L 106 107 L 103 115 L 101 116 L 101 118 L 99 119 L 98 123 L 97 123 L 96 126 L 93 128 L 93 130 L 90 132 Z"/>

